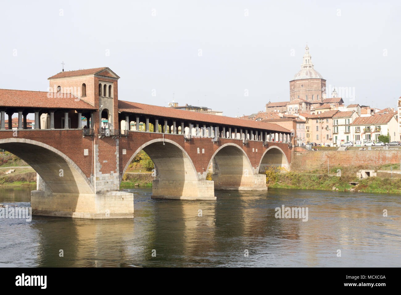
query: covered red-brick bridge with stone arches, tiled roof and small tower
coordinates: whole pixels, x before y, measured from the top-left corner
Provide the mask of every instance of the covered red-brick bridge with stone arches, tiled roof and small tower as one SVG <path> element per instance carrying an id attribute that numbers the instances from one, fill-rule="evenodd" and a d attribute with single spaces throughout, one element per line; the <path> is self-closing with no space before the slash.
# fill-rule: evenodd
<path id="1" fill-rule="evenodd" d="M 118 78 L 104 67 L 58 73 L 48 92 L 0 90 L 0 148 L 37 172 L 34 214 L 132 218 L 133 194 L 119 185 L 141 150 L 155 165 L 154 198 L 213 200 L 215 189 L 265 190 L 265 166 L 290 169 L 290 130 L 121 101 Z M 11 129 L 13 114 L 18 127 Z"/>

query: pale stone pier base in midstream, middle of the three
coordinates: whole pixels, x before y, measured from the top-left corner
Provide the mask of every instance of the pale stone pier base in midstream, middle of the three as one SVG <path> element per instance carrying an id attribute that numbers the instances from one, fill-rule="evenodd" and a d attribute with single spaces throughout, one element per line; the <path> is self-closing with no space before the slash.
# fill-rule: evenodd
<path id="1" fill-rule="evenodd" d="M 215 200 L 213 181 L 159 181 L 152 182 L 153 199 Z"/>

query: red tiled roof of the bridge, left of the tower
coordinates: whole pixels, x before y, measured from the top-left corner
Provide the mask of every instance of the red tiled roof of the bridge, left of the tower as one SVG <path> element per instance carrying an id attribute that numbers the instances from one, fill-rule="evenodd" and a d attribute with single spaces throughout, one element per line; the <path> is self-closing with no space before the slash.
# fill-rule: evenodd
<path id="1" fill-rule="evenodd" d="M 63 98 L 48 98 L 45 91 L 0 89 L 0 107 L 20 108 L 65 108 L 95 110 L 91 104 L 72 94 L 62 94 Z"/>

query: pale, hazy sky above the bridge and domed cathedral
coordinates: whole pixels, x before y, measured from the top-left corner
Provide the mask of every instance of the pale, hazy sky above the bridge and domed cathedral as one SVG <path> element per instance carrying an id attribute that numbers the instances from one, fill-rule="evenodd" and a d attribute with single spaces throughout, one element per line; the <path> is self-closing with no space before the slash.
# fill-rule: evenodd
<path id="1" fill-rule="evenodd" d="M 354 89 L 356 100 L 345 104 L 396 108 L 400 7 L 399 1 L 2 1 L 0 88 L 46 91 L 64 61 L 66 71 L 109 67 L 121 77 L 120 100 L 167 106 L 174 93 L 180 105 L 248 115 L 269 100 L 289 100 L 307 43 L 327 85 Z"/>

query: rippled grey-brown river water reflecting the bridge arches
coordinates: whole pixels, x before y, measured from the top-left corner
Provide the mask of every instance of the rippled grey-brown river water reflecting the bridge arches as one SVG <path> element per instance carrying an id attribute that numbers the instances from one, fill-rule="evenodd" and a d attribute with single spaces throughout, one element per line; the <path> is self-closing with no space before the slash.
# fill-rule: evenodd
<path id="1" fill-rule="evenodd" d="M 0 203 L 29 207 L 31 189 L 0 188 Z M 269 189 L 179 201 L 126 191 L 134 220 L 1 218 L 0 267 L 401 265 L 399 195 Z M 308 221 L 275 218 L 282 205 L 308 208 Z"/>

